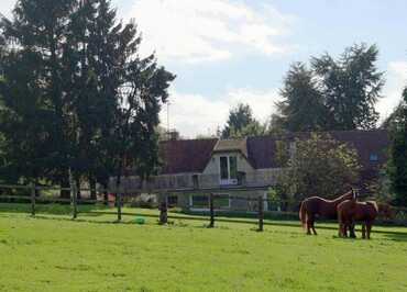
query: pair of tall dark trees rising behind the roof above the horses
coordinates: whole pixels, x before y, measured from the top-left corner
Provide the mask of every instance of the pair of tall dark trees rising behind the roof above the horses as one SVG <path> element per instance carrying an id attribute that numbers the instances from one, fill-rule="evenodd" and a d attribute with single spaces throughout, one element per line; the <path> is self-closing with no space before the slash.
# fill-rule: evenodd
<path id="1" fill-rule="evenodd" d="M 328 53 L 292 65 L 277 103 L 287 131 L 371 130 L 376 127 L 375 103 L 384 85 L 378 49 L 366 44 L 346 47 L 338 59 Z"/>

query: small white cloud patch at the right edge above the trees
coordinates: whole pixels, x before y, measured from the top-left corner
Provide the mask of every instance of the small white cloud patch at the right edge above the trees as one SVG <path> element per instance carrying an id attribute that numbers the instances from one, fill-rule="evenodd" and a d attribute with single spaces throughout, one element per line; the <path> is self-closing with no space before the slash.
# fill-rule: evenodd
<path id="1" fill-rule="evenodd" d="M 387 68 L 384 98 L 377 102 L 381 120 L 386 119 L 402 100 L 403 89 L 407 86 L 407 61 L 391 61 Z"/>

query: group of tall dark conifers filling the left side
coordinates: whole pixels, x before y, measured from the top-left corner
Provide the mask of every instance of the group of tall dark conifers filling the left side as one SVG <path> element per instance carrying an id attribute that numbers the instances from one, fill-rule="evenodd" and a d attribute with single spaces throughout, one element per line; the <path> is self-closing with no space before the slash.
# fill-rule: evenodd
<path id="1" fill-rule="evenodd" d="M 19 0 L 0 21 L 0 177 L 120 183 L 157 162 L 158 112 L 175 76 L 139 54 L 109 0 Z M 68 195 L 68 193 L 62 193 Z M 94 193 L 95 195 L 95 193 Z"/>

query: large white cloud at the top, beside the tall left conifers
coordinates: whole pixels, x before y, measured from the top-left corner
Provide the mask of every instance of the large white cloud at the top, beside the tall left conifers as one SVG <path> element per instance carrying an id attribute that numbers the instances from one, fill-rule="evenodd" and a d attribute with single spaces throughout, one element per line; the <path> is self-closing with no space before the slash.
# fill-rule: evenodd
<path id="1" fill-rule="evenodd" d="M 135 0 L 128 18 L 134 18 L 144 36 L 144 54 L 155 50 L 164 60 L 222 60 L 290 49 L 275 38 L 287 34 L 293 18 L 270 5 L 257 10 L 232 0 Z"/>

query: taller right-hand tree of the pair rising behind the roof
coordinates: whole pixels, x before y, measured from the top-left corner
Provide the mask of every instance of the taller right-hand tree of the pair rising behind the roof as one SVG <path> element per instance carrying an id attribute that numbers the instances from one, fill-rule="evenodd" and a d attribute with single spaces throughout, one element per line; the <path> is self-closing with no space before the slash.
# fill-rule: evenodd
<path id="1" fill-rule="evenodd" d="M 377 56 L 375 45 L 361 44 L 346 47 L 338 60 L 328 54 L 311 58 L 332 130 L 376 127 L 374 105 L 384 86 Z"/>

